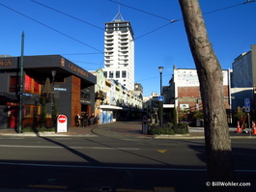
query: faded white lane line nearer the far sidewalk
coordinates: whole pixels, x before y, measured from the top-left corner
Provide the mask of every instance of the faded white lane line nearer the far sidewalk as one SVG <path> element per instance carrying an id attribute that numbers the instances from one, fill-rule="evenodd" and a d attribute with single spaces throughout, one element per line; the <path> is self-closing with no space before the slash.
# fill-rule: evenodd
<path id="1" fill-rule="evenodd" d="M 137 148 L 103 148 L 103 147 L 65 147 L 65 146 L 14 146 L 14 145 L 0 145 L 0 148 L 45 148 L 45 149 L 87 149 L 87 150 L 124 150 L 124 151 L 138 151 Z"/>

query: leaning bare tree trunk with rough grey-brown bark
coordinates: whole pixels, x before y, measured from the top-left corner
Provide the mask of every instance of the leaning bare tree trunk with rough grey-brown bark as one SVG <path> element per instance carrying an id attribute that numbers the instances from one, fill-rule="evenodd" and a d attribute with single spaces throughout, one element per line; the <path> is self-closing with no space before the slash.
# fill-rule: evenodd
<path id="1" fill-rule="evenodd" d="M 209 41 L 198 0 L 180 0 L 185 31 L 200 82 L 205 121 L 208 178 L 235 181 L 231 140 L 224 105 L 223 74 Z M 231 187 L 207 187 L 209 191 L 235 191 Z"/>

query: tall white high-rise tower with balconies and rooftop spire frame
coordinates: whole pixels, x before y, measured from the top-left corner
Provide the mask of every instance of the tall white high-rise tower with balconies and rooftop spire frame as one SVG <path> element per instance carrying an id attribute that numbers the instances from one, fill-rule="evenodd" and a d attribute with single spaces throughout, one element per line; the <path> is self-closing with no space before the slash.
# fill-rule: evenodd
<path id="1" fill-rule="evenodd" d="M 134 90 L 134 41 L 129 21 L 118 13 L 105 23 L 104 76 Z"/>

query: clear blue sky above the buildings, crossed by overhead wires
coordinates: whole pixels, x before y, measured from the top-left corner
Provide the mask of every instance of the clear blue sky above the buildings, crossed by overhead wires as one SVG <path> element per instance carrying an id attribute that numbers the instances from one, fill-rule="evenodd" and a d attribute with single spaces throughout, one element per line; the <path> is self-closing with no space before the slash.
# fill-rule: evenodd
<path id="1" fill-rule="evenodd" d="M 135 82 L 142 84 L 144 96 L 159 94 L 159 66 L 164 67 L 163 86 L 173 65 L 195 69 L 178 0 L 0 0 L 0 55 L 19 56 L 24 31 L 25 55 L 61 54 L 83 69 L 103 68 L 104 23 L 118 14 L 116 2 L 124 4 L 121 14 L 132 25 Z M 199 2 L 203 13 L 216 11 L 204 14 L 209 38 L 222 69 L 232 69 L 234 59 L 256 43 L 256 2 Z M 168 24 L 168 19 L 178 21 Z"/>

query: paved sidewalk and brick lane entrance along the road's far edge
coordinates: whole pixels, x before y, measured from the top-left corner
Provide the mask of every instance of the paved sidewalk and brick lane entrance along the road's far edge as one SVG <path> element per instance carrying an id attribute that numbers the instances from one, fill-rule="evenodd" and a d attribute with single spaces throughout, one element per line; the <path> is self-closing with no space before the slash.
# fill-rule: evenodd
<path id="1" fill-rule="evenodd" d="M 0 129 L 0 136 L 77 136 L 77 137 L 97 137 L 105 136 L 119 139 L 128 138 L 152 138 L 152 139 L 204 139 L 203 127 L 189 127 L 187 135 L 147 135 L 142 134 L 141 122 L 116 122 L 103 123 L 87 127 L 70 127 L 67 133 L 55 132 L 24 132 L 16 133 L 14 128 Z M 237 128 L 230 127 L 230 136 L 234 138 L 256 139 L 256 135 L 249 136 L 248 133 L 237 133 Z"/>

